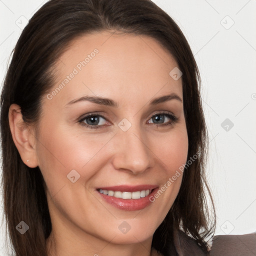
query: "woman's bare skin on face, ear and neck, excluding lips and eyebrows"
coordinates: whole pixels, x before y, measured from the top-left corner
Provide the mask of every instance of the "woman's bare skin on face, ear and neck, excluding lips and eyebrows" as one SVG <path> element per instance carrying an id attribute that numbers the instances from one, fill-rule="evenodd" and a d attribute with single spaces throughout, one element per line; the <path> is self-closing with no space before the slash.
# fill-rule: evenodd
<path id="1" fill-rule="evenodd" d="M 35 125 L 24 125 L 18 105 L 10 106 L 13 141 L 23 162 L 39 166 L 46 182 L 52 222 L 48 255 L 148 256 L 153 233 L 178 193 L 182 173 L 142 210 L 113 207 L 96 188 L 121 184 L 161 187 L 186 162 L 182 101 L 149 105 L 152 98 L 170 93 L 183 100 L 182 77 L 171 78 L 169 72 L 177 63 L 153 38 L 105 31 L 71 42 L 56 63 L 52 89 L 94 48 L 99 52 L 52 99 L 43 96 L 38 133 Z M 84 95 L 111 98 L 119 106 L 89 101 L 66 105 Z M 95 111 L 105 118 L 99 117 L 98 126 L 102 126 L 93 129 L 79 123 L 79 117 Z M 162 122 L 153 117 L 162 111 L 174 114 L 177 122 L 162 126 L 171 121 L 161 114 Z M 131 124 L 127 131 L 118 126 L 123 118 Z M 83 123 L 90 124 L 88 118 Z M 67 178 L 72 169 L 80 175 L 74 183 Z M 131 227 L 125 234 L 118 229 L 124 220 Z"/>

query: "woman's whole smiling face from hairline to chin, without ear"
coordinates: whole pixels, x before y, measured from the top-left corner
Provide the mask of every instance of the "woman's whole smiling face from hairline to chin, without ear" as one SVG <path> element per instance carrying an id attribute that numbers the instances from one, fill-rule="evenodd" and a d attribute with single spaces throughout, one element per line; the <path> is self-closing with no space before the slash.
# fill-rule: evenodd
<path id="1" fill-rule="evenodd" d="M 58 59 L 35 152 L 55 233 L 136 243 L 181 184 L 182 173 L 167 181 L 187 157 L 182 77 L 153 38 L 110 35 L 81 36 Z"/>

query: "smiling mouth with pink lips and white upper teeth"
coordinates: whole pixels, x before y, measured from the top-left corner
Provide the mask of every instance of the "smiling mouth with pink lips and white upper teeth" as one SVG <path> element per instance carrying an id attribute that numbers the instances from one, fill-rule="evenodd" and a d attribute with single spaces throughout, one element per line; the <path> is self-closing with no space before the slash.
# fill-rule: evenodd
<path id="1" fill-rule="evenodd" d="M 112 206 L 122 210 L 140 210 L 152 203 L 150 196 L 157 187 L 157 185 L 120 185 L 96 190 L 99 196 Z"/>

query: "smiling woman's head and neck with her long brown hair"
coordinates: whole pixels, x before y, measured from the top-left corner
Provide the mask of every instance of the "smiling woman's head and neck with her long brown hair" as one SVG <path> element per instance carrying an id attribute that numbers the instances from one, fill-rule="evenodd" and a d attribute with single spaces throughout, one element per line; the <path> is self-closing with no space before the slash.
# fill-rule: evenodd
<path id="1" fill-rule="evenodd" d="M 151 1 L 45 3 L 13 52 L 1 136 L 16 255 L 209 253 L 199 73 Z"/>

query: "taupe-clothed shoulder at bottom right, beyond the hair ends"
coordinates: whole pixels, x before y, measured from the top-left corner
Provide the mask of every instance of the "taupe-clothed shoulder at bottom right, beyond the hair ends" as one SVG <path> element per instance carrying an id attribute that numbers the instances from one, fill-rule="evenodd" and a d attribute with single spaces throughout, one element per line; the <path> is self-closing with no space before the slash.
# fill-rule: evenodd
<path id="1" fill-rule="evenodd" d="M 256 232 L 239 235 L 215 235 L 210 256 L 255 256 Z"/>

